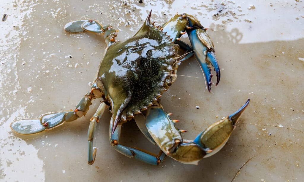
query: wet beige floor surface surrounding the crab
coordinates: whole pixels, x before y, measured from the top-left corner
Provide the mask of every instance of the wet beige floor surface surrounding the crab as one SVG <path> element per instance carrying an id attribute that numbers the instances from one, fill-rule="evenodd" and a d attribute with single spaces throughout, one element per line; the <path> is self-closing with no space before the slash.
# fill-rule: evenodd
<path id="1" fill-rule="evenodd" d="M 1 181 L 301 181 L 304 178 L 304 3 L 289 1 L 26 1 L 1 0 Z M 74 109 L 94 78 L 105 43 L 92 34 L 69 35 L 65 23 L 97 19 L 119 29 L 118 40 L 140 28 L 152 9 L 162 25 L 176 12 L 209 27 L 221 80 L 206 91 L 195 59 L 181 64 L 162 104 L 194 137 L 250 98 L 226 146 L 186 165 L 167 158 L 159 167 L 117 153 L 109 145 L 110 114 L 96 130 L 96 161 L 87 164 L 86 117 L 33 136 L 9 128 L 14 120 Z M 215 15 L 214 15 L 215 14 Z M 182 38 L 188 41 L 185 36 Z M 69 56 L 72 58 L 69 58 Z M 193 78 L 199 77 L 199 78 Z M 199 109 L 195 107 L 199 106 Z M 121 143 L 158 149 L 135 123 Z"/>

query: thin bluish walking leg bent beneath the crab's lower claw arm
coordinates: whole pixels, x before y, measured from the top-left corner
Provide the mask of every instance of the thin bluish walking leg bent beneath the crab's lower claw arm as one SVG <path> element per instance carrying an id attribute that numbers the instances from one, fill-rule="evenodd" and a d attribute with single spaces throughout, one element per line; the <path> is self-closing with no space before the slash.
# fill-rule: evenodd
<path id="1" fill-rule="evenodd" d="M 123 154 L 126 157 L 135 158 L 137 160 L 143 161 L 145 163 L 153 164 L 153 165 L 159 165 L 161 164 L 165 158 L 166 154 L 160 151 L 158 155 L 154 153 L 150 153 L 148 151 L 138 149 L 135 147 L 126 147 L 124 145 L 119 144 L 119 136 L 121 131 L 121 125 L 119 124 L 116 127 L 116 130 L 112 134 L 112 123 L 113 120 L 111 118 L 110 123 L 110 144 L 116 151 Z"/>

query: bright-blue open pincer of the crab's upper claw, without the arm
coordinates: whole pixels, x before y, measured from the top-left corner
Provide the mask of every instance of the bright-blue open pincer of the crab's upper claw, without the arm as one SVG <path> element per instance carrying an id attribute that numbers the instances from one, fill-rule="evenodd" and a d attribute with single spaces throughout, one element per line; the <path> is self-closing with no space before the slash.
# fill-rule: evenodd
<path id="1" fill-rule="evenodd" d="M 192 45 L 195 56 L 197 57 L 199 64 L 204 72 L 206 84 L 209 92 L 211 92 L 211 78 L 212 78 L 212 69 L 214 67 L 216 72 L 216 85 L 219 83 L 221 76 L 219 64 L 216 60 L 214 54 L 214 45 L 209 35 L 206 33 L 205 29 L 189 29 L 187 30 L 188 36 Z"/>

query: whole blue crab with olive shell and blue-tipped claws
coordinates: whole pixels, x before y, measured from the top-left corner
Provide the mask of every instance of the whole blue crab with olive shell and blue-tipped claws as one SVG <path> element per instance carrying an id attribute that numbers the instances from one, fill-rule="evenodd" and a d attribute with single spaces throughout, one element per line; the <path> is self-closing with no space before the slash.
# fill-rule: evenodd
<path id="1" fill-rule="evenodd" d="M 91 90 L 79 101 L 75 110 L 47 113 L 37 119 L 22 119 L 11 123 L 19 134 L 34 134 L 51 130 L 66 122 L 84 116 L 92 99 L 103 101 L 90 119 L 88 129 L 88 163 L 95 161 L 96 147 L 93 138 L 96 124 L 106 110 L 112 112 L 110 144 L 119 153 L 146 163 L 159 165 L 166 156 L 181 163 L 197 164 L 204 157 L 219 151 L 227 142 L 237 120 L 247 107 L 247 102 L 235 113 L 222 118 L 202 131 L 194 140 L 184 140 L 160 103 L 164 93 L 176 80 L 181 61 L 195 56 L 204 72 L 207 88 L 211 92 L 212 69 L 220 80 L 220 69 L 214 54 L 214 45 L 200 22 L 188 14 L 176 14 L 163 26 L 150 22 L 151 12 L 140 30 L 125 41 L 117 41 L 118 30 L 102 26 L 95 20 L 78 20 L 67 23 L 69 33 L 92 32 L 104 35 L 107 48 L 99 64 Z M 180 41 L 187 33 L 191 45 Z M 187 52 L 178 55 L 178 49 Z M 123 123 L 135 119 L 142 133 L 161 149 L 159 154 L 146 152 L 119 143 Z"/>

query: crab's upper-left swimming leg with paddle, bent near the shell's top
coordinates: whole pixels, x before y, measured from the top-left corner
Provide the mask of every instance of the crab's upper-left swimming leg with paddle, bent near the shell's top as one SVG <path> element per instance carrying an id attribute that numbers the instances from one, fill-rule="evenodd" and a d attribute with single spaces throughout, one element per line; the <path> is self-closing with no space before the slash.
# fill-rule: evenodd
<path id="1" fill-rule="evenodd" d="M 108 47 L 113 43 L 117 42 L 115 37 L 117 36 L 118 30 L 113 29 L 112 26 L 102 26 L 96 20 L 76 20 L 69 22 L 64 26 L 64 31 L 69 33 L 80 33 L 80 32 L 92 32 L 95 34 L 104 35 L 105 42 Z"/>

